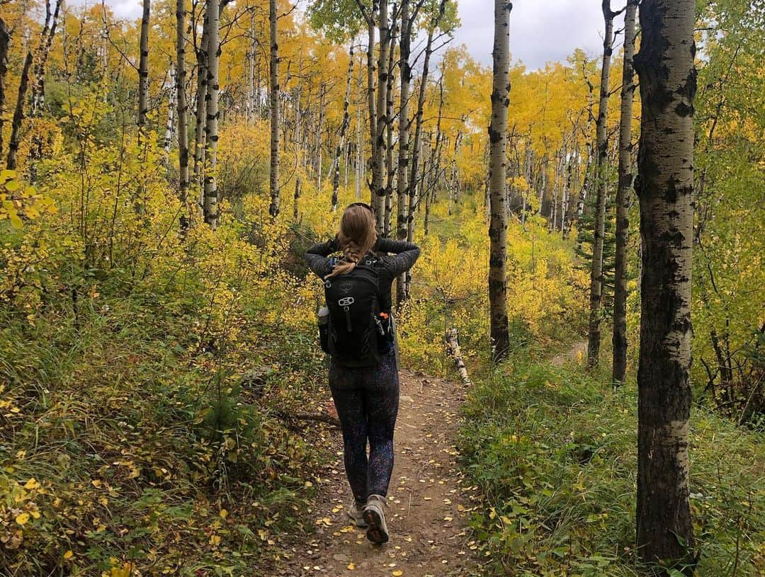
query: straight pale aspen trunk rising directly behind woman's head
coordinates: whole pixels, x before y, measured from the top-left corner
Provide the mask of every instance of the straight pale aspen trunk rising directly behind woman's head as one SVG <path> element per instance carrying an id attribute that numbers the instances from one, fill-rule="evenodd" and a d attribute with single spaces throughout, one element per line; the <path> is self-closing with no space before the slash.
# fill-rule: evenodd
<path id="1" fill-rule="evenodd" d="M 372 151 L 372 208 L 376 214 L 377 231 L 382 233 L 385 219 L 385 128 L 386 99 L 388 88 L 388 51 L 390 50 L 390 28 L 388 24 L 388 0 L 379 1 L 380 46 L 377 59 L 376 128 Z"/>

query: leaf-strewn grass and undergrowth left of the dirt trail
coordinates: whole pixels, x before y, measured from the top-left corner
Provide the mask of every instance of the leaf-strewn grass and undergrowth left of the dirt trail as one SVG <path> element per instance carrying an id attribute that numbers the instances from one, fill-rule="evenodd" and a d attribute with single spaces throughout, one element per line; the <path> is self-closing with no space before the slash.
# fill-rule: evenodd
<path id="1" fill-rule="evenodd" d="M 313 327 L 272 290 L 210 336 L 187 294 L 0 314 L 0 575 L 253 575 L 312 529 L 325 429 L 283 415 L 321 411 Z"/>

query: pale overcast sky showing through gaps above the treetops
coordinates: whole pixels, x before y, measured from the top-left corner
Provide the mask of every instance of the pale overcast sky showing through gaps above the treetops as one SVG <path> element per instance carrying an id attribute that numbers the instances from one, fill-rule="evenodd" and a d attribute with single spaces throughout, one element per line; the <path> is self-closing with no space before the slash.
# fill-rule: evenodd
<path id="1" fill-rule="evenodd" d="M 83 4 L 86 0 L 75 0 Z M 93 4 L 96 0 L 87 0 Z M 139 18 L 140 0 L 107 0 L 119 18 Z M 306 0 L 301 0 L 304 5 Z M 493 0 L 457 0 L 462 27 L 455 40 L 474 58 L 491 63 Z M 617 18 L 618 20 L 618 18 Z M 617 22 L 618 27 L 618 22 Z M 529 68 L 565 60 L 575 48 L 591 55 L 602 50 L 601 0 L 514 0 L 510 14 L 510 52 Z"/>

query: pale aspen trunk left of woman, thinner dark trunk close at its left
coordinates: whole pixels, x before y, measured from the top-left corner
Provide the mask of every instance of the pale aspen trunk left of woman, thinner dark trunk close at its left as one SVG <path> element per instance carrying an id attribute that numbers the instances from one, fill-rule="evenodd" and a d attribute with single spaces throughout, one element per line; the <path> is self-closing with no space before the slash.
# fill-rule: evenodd
<path id="1" fill-rule="evenodd" d="M 204 222 L 215 230 L 218 226 L 218 188 L 216 181 L 218 148 L 218 60 L 220 57 L 220 5 L 207 0 L 207 122 L 205 136 L 207 154 L 204 160 Z"/>

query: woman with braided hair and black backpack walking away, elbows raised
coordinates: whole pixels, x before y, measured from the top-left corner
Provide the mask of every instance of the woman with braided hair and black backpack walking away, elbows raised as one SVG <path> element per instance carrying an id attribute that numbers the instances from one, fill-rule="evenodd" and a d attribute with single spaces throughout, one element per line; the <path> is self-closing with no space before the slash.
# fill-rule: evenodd
<path id="1" fill-rule="evenodd" d="M 342 257 L 328 258 L 335 252 Z M 324 280 L 327 297 L 327 310 L 322 311 L 328 311 L 329 325 L 322 348 L 330 353 L 330 391 L 343 430 L 345 471 L 353 492 L 348 514 L 377 544 L 389 538 L 383 506 L 393 471 L 393 430 L 399 412 L 391 287 L 419 254 L 411 242 L 377 238 L 373 209 L 365 203 L 348 206 L 337 236 L 305 254 L 308 266 Z"/>

